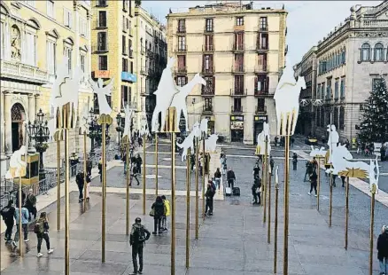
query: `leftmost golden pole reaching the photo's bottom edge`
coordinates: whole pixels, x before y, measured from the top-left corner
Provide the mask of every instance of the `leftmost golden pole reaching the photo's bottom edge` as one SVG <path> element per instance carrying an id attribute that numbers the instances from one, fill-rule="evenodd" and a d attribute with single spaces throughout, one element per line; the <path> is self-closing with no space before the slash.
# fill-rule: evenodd
<path id="1" fill-rule="evenodd" d="M 68 104 L 70 106 L 70 104 Z M 65 110 L 66 111 L 66 110 Z M 69 130 L 64 129 L 65 135 L 65 275 L 70 274 L 70 196 L 69 196 L 69 184 L 70 184 L 70 165 L 69 165 Z M 60 203 L 60 201 L 59 201 Z"/>

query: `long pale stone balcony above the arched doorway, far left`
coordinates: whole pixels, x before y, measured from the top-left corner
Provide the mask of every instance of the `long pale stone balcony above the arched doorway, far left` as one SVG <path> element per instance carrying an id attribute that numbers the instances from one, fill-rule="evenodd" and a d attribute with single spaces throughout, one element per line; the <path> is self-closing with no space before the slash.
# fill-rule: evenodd
<path id="1" fill-rule="evenodd" d="M 39 67 L 21 64 L 19 62 L 1 60 L 2 78 L 11 78 L 27 83 L 49 83 L 49 74 Z"/>

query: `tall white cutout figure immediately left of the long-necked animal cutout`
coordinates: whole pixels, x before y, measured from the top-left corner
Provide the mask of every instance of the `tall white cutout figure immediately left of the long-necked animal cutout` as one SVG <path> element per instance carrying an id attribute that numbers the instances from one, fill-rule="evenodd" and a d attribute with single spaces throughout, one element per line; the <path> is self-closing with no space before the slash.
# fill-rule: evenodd
<path id="1" fill-rule="evenodd" d="M 161 113 L 161 125 L 160 129 L 163 130 L 166 124 L 166 114 L 168 107 L 173 103 L 175 94 L 179 92 L 176 87 L 174 77 L 172 75 L 172 69 L 174 67 L 175 58 L 170 58 L 167 62 L 167 67 L 163 70 L 158 84 L 158 90 L 154 92 L 156 96 L 156 106 L 153 110 L 151 120 L 152 132 L 158 131 L 158 116 Z"/>

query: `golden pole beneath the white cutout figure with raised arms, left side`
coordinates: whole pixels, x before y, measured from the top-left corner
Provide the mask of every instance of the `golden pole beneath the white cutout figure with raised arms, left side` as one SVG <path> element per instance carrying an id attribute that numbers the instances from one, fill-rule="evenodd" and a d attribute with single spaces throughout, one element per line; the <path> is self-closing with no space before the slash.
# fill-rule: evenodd
<path id="1" fill-rule="evenodd" d="M 106 124 L 105 123 L 102 123 L 102 127 L 103 127 L 103 152 L 102 152 L 102 166 L 103 166 L 103 169 L 102 169 L 102 173 L 103 173 L 103 185 L 102 185 L 102 193 L 103 193 L 103 196 L 102 196 L 102 200 L 103 200 L 103 205 L 102 205 L 102 213 L 101 213 L 101 262 L 102 263 L 105 263 L 105 210 L 106 210 L 106 205 L 105 205 L 105 202 L 106 202 L 106 167 L 105 167 L 105 164 L 106 164 L 106 156 L 105 156 L 105 153 L 106 153 L 106 150 L 105 150 L 105 142 L 106 142 L 106 137 L 105 137 L 105 132 L 106 132 Z"/>

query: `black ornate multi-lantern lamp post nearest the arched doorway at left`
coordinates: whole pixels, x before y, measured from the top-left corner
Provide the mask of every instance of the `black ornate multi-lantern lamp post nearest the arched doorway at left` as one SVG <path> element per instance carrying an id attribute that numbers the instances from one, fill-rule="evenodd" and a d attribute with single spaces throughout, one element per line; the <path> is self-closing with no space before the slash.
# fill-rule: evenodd
<path id="1" fill-rule="evenodd" d="M 47 120 L 44 121 L 44 114 L 42 109 L 39 109 L 39 113 L 36 114 L 34 124 L 28 122 L 28 136 L 35 140 L 35 149 L 39 153 L 39 179 L 44 178 L 44 167 L 43 167 L 43 153 L 46 152 L 49 145 L 47 141 L 50 137 L 49 127 L 47 126 Z"/>

